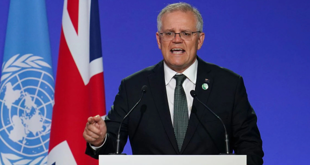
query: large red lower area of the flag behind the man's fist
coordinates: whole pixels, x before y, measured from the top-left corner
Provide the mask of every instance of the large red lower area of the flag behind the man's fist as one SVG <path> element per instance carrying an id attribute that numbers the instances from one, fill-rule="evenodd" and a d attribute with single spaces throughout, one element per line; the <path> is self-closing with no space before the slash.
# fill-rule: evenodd
<path id="1" fill-rule="evenodd" d="M 61 31 L 49 150 L 66 140 L 77 164 L 98 164 L 84 153 L 82 136 L 87 118 L 96 114 L 105 114 L 103 73 L 85 86 Z"/>

